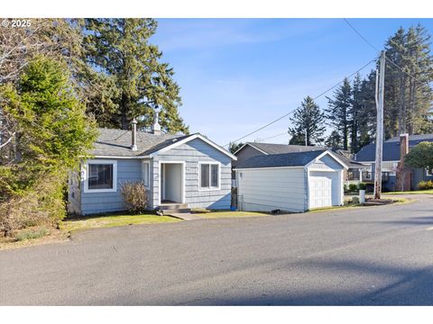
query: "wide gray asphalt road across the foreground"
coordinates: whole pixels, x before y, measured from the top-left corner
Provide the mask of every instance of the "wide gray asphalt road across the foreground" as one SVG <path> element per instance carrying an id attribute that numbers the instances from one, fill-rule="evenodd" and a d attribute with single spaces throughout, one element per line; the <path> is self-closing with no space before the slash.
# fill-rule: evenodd
<path id="1" fill-rule="evenodd" d="M 433 305 L 433 196 L 0 251 L 1 305 Z"/>

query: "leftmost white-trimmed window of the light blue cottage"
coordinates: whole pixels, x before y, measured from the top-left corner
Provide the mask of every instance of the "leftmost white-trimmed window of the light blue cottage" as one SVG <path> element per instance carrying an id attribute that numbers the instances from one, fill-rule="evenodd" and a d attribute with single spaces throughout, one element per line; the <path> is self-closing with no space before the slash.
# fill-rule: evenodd
<path id="1" fill-rule="evenodd" d="M 110 193 L 116 191 L 117 162 L 91 160 L 86 166 L 85 193 Z"/>

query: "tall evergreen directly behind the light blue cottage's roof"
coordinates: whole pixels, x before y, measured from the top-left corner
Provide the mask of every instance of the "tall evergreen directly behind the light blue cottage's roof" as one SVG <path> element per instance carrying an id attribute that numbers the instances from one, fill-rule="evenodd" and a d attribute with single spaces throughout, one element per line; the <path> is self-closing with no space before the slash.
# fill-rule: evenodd
<path id="1" fill-rule="evenodd" d="M 173 69 L 161 63 L 161 50 L 149 42 L 156 27 L 153 19 L 85 20 L 88 62 L 113 77 L 118 89 L 114 110 L 90 111 L 100 123 L 126 130 L 134 117 L 142 116 L 139 127 L 146 127 L 160 109 L 163 130 L 188 133 L 178 112 L 180 86 Z"/>

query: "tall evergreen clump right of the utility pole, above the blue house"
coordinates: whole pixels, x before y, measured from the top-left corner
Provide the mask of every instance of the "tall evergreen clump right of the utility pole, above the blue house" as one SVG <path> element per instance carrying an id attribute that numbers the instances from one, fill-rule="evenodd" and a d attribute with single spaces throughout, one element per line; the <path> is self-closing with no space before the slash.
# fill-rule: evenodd
<path id="1" fill-rule="evenodd" d="M 385 44 L 387 58 L 395 63 L 387 62 L 385 70 L 387 138 L 431 129 L 433 58 L 429 39 L 427 30 L 418 25 L 408 31 L 400 28 Z"/>

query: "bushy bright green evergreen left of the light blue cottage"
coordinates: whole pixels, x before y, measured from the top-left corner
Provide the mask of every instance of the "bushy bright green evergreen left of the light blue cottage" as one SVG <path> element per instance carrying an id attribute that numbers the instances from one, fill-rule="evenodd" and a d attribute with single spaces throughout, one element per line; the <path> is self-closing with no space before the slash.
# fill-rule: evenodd
<path id="1" fill-rule="evenodd" d="M 67 176 L 88 157 L 97 130 L 59 59 L 34 58 L 17 84 L 0 86 L 0 94 L 16 130 L 14 161 L 0 166 L 0 229 L 10 235 L 65 216 Z"/>

